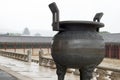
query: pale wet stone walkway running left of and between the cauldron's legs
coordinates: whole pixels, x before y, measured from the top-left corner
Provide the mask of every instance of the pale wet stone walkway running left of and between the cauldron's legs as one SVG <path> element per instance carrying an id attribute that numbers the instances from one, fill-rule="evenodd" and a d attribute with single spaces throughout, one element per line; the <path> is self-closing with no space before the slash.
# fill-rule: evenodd
<path id="1" fill-rule="evenodd" d="M 0 56 L 0 69 L 13 75 L 18 80 L 57 80 L 56 69 L 3 56 Z M 67 73 L 65 80 L 79 80 L 79 76 Z"/>

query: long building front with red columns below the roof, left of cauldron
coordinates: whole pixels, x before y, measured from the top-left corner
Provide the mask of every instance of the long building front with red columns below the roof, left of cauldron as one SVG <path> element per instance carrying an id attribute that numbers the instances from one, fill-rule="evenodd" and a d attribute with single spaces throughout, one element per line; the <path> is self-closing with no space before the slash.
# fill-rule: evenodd
<path id="1" fill-rule="evenodd" d="M 50 48 L 51 44 L 48 43 L 0 43 L 0 50 L 23 54 L 31 50 L 33 56 L 38 56 L 40 50 L 43 50 L 44 54 L 50 54 Z"/>

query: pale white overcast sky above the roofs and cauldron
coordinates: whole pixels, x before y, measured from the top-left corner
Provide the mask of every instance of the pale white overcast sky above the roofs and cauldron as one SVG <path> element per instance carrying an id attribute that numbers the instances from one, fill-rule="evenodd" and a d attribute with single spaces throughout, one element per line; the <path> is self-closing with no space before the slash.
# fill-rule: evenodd
<path id="1" fill-rule="evenodd" d="M 0 33 L 22 33 L 29 28 L 31 34 L 53 36 L 52 14 L 48 4 L 56 2 L 60 20 L 93 20 L 103 12 L 101 31 L 120 33 L 119 0 L 0 0 Z"/>

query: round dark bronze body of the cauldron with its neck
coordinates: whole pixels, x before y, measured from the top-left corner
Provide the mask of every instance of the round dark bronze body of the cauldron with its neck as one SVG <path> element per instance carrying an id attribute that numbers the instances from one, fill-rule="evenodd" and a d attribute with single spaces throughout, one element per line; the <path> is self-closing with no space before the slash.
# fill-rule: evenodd
<path id="1" fill-rule="evenodd" d="M 100 24 L 96 26 L 97 22 L 91 25 L 88 25 L 88 22 L 81 23 L 63 23 L 61 28 L 64 31 L 59 31 L 54 36 L 52 56 L 56 63 L 80 68 L 91 64 L 98 65 L 102 61 L 104 42 L 96 32 Z"/>

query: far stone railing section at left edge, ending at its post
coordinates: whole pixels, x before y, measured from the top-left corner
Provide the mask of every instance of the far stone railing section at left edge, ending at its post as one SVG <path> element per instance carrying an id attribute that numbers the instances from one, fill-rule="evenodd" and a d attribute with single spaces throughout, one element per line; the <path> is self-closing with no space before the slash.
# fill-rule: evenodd
<path id="1" fill-rule="evenodd" d="M 15 53 L 15 52 L 7 52 L 7 51 L 0 51 L 1 56 L 18 59 L 26 62 L 30 62 L 31 53 L 28 51 L 27 54 Z"/>

